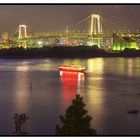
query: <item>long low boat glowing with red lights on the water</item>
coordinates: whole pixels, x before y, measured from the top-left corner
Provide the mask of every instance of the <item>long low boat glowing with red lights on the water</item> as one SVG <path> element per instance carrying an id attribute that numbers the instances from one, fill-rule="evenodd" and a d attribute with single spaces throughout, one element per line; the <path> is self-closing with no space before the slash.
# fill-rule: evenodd
<path id="1" fill-rule="evenodd" d="M 84 72 L 86 67 L 81 67 L 79 65 L 70 65 L 70 66 L 59 66 L 59 71 L 66 71 L 66 72 Z"/>

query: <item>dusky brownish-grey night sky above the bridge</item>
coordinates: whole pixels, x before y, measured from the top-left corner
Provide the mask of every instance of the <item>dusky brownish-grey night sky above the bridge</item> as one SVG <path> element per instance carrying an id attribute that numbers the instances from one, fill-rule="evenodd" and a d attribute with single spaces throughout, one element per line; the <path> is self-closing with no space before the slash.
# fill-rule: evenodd
<path id="1" fill-rule="evenodd" d="M 116 28 L 140 28 L 140 5 L 0 5 L 0 34 L 27 24 L 34 32 L 62 30 L 91 13 Z"/>

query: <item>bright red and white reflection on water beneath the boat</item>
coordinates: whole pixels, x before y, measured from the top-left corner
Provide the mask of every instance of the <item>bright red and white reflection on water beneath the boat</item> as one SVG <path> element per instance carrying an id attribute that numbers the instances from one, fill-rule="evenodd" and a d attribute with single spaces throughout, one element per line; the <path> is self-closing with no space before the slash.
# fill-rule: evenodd
<path id="1" fill-rule="evenodd" d="M 61 91 L 64 106 L 68 106 L 84 83 L 84 72 L 60 71 Z"/>

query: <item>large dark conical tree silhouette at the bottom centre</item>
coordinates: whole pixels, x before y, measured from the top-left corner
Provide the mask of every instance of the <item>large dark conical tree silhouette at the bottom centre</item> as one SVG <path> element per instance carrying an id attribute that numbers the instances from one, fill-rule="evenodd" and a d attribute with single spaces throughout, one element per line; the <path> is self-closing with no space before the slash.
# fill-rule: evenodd
<path id="1" fill-rule="evenodd" d="M 84 107 L 83 97 L 76 95 L 65 116 L 60 116 L 62 125 L 56 126 L 56 135 L 95 135 L 96 130 L 90 126 L 92 117 L 87 114 L 88 111 Z"/>

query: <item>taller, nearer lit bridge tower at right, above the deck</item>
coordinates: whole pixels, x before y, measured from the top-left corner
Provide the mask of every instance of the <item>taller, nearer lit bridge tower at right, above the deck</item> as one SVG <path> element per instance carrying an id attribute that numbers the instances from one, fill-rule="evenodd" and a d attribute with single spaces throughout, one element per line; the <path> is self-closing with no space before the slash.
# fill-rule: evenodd
<path id="1" fill-rule="evenodd" d="M 91 15 L 90 35 L 93 34 L 102 34 L 102 22 L 101 17 L 98 14 Z"/>

